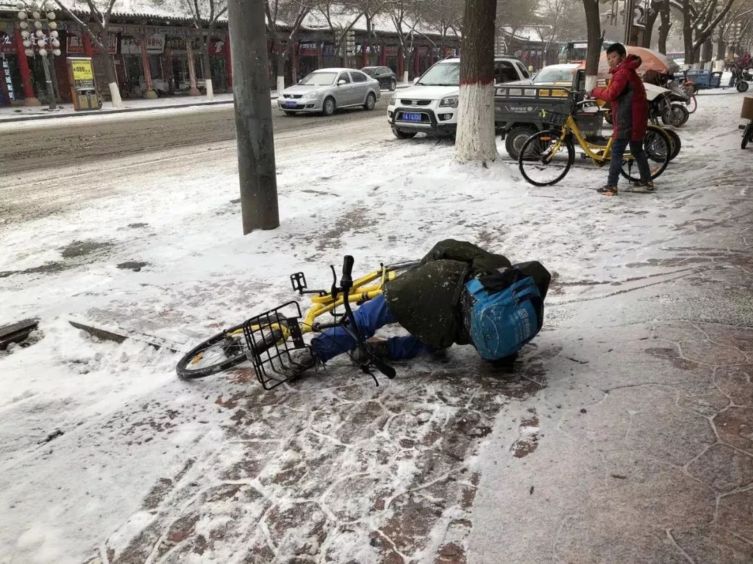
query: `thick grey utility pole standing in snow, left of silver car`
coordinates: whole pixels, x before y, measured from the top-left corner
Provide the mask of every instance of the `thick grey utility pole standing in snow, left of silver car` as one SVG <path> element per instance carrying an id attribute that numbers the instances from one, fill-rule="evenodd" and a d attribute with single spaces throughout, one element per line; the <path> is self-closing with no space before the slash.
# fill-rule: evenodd
<path id="1" fill-rule="evenodd" d="M 264 0 L 230 0 L 238 177 L 243 235 L 279 227 Z"/>

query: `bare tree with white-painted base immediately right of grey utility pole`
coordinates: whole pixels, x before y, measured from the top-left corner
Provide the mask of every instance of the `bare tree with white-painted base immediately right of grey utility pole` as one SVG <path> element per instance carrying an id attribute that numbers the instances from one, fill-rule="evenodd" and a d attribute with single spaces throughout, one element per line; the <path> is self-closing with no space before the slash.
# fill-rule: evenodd
<path id="1" fill-rule="evenodd" d="M 316 4 L 317 0 L 264 0 L 267 33 L 275 51 L 278 92 L 285 89 L 285 62 L 293 52 L 298 30 Z"/>

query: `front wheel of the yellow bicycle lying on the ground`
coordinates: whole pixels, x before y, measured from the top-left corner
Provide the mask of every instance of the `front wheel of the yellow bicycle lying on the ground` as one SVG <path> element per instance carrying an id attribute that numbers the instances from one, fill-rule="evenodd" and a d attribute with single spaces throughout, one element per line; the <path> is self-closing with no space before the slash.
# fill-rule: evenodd
<path id="1" fill-rule="evenodd" d="M 205 378 L 243 362 L 246 359 L 246 347 L 242 329 L 243 323 L 230 327 L 185 353 L 175 366 L 178 378 Z M 265 335 L 264 343 L 259 346 L 271 347 L 280 338 L 282 331 L 275 329 Z"/>

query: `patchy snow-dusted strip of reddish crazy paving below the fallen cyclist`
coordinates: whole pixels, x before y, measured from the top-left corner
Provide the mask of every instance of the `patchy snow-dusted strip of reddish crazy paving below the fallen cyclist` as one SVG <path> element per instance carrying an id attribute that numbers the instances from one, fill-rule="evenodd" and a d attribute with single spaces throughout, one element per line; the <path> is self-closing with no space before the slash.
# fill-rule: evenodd
<path id="1" fill-rule="evenodd" d="M 215 398 L 231 413 L 222 449 L 154 484 L 142 532 L 108 560 L 466 562 L 474 456 L 503 405 L 541 390 L 541 354 L 556 351 L 511 378 L 468 371 L 462 354 L 414 363 L 400 388 L 343 363 L 264 393 L 236 369 L 236 393 Z"/>

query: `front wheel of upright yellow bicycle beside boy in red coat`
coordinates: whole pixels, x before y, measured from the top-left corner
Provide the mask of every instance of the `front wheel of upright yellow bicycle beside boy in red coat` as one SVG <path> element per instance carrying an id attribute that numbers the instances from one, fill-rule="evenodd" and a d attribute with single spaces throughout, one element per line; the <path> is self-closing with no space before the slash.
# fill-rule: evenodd
<path id="1" fill-rule="evenodd" d="M 547 129 L 534 135 L 520 148 L 518 168 L 534 186 L 551 186 L 565 177 L 575 162 L 572 139 L 559 139 L 560 132 Z"/>

